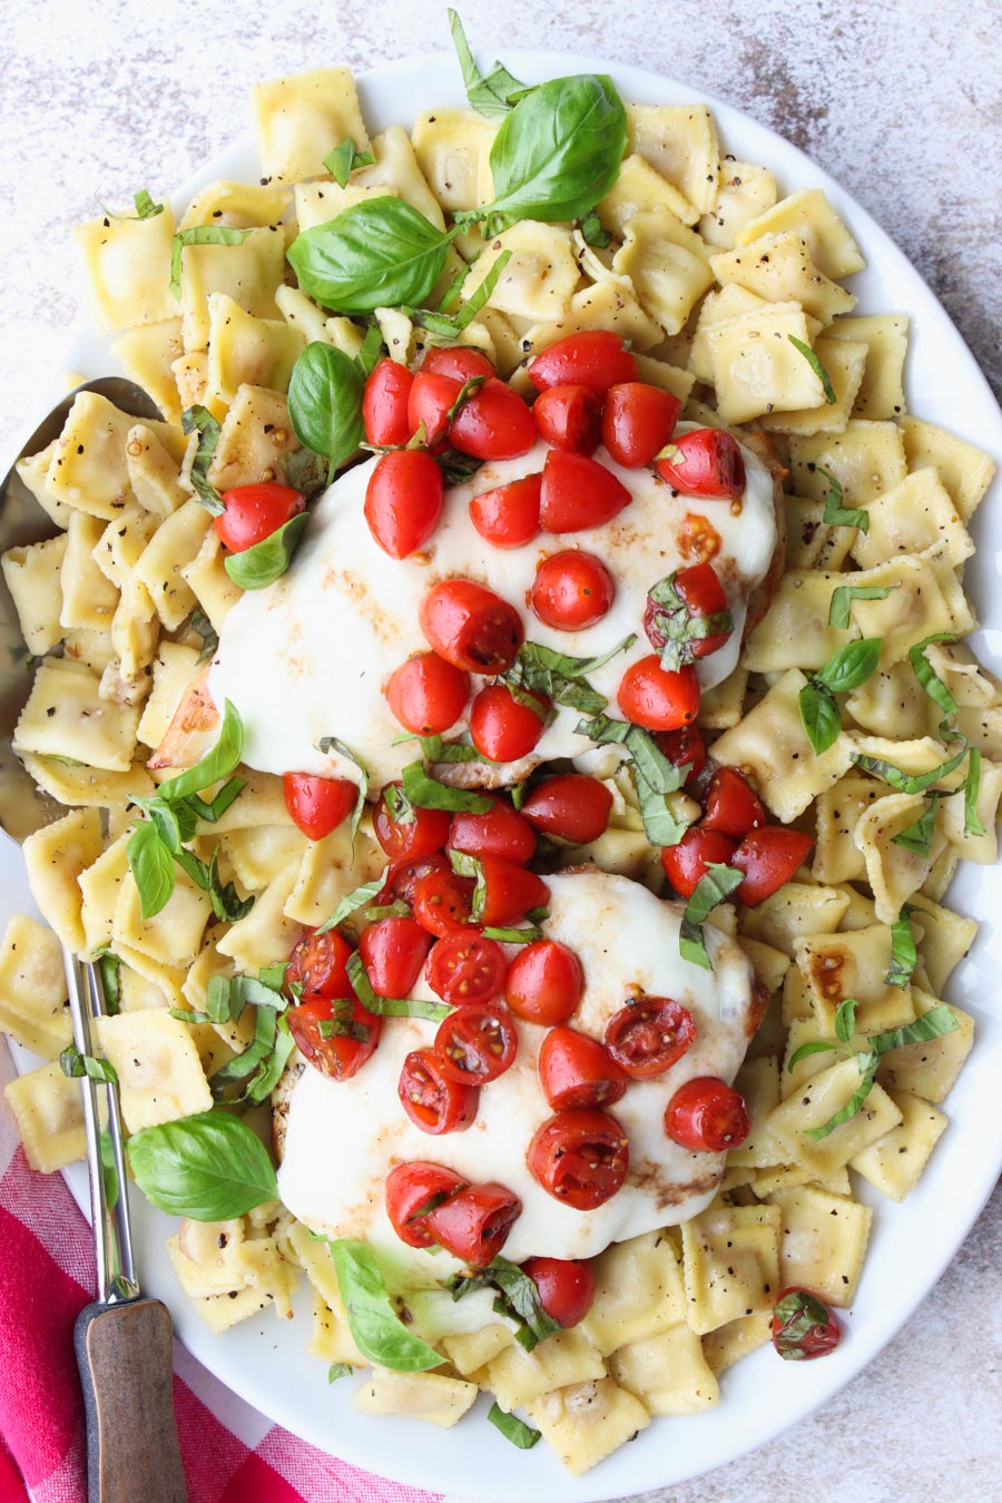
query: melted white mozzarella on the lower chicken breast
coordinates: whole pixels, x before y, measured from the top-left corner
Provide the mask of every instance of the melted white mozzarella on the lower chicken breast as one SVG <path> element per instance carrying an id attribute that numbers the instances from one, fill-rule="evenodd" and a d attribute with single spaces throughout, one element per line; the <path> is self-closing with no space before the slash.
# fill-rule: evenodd
<path id="1" fill-rule="evenodd" d="M 404 1247 L 386 1216 L 386 1174 L 412 1159 L 448 1165 L 475 1183 L 497 1180 L 518 1195 L 523 1211 L 505 1244 L 505 1257 L 515 1261 L 532 1255 L 589 1258 L 610 1241 L 687 1220 L 709 1204 L 724 1156 L 681 1148 L 665 1136 L 662 1118 L 685 1081 L 735 1078 L 748 1045 L 747 957 L 709 926 L 714 969 L 684 960 L 681 909 L 626 878 L 583 872 L 547 881 L 547 935 L 571 945 L 584 966 L 586 989 L 571 1019 L 574 1028 L 601 1039 L 635 987 L 673 996 L 696 1021 L 696 1039 L 678 1064 L 655 1079 L 632 1082 L 613 1108 L 629 1138 L 623 1187 L 596 1210 L 577 1211 L 553 1199 L 529 1172 L 529 1141 L 551 1115 L 536 1075 L 545 1028 L 518 1024 L 518 1057 L 481 1090 L 472 1127 L 430 1136 L 406 1117 L 397 1081 L 409 1051 L 431 1042 L 431 1025 L 386 1019 L 379 1049 L 352 1081 L 330 1081 L 306 1067 L 290 1090 L 278 1190 L 308 1226 L 330 1237 L 362 1237 L 398 1267 L 442 1276 L 445 1255 Z M 515 953 L 515 947 L 508 948 Z M 424 980 L 413 995 L 433 996 Z"/>

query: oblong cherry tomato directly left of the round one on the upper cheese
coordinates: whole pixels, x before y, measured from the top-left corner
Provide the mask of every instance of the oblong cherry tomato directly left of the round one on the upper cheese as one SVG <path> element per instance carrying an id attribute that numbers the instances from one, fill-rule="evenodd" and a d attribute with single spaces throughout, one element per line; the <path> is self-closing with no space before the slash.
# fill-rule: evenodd
<path id="1" fill-rule="evenodd" d="M 472 579 L 434 585 L 418 622 L 436 652 L 466 673 L 506 673 L 524 640 L 515 607 Z"/>

